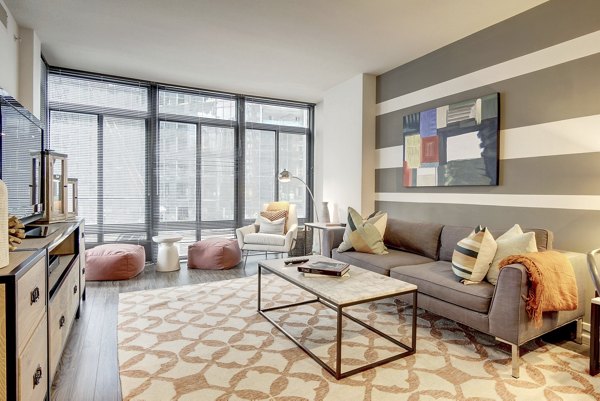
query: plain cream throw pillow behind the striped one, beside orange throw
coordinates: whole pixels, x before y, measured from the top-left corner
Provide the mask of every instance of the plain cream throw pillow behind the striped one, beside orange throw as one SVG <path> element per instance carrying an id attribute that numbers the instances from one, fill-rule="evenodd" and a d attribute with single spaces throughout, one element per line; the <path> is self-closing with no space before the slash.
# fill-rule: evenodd
<path id="1" fill-rule="evenodd" d="M 511 255 L 520 255 L 522 253 L 537 252 L 537 243 L 535 233 L 529 232 L 523 234 L 523 230 L 518 224 L 515 224 L 510 230 L 502 234 L 496 240 L 498 249 L 492 261 L 492 266 L 488 270 L 486 280 L 496 285 L 498 274 L 500 274 L 499 265 L 502 259 Z"/>

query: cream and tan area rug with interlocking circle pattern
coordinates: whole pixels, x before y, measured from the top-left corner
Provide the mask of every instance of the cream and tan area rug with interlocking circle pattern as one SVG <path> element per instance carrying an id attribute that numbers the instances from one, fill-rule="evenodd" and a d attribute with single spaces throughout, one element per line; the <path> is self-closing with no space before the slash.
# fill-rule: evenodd
<path id="1" fill-rule="evenodd" d="M 285 281 L 263 276 L 263 303 L 307 299 Z M 419 310 L 417 352 L 336 380 L 257 311 L 257 279 L 124 293 L 118 355 L 123 400 L 598 400 L 600 378 L 587 357 L 537 340 L 510 376 L 510 349 L 490 336 Z M 410 313 L 400 300 L 351 313 L 410 343 Z M 331 364 L 334 315 L 318 304 L 270 312 Z M 397 349 L 344 321 L 344 369 Z"/>

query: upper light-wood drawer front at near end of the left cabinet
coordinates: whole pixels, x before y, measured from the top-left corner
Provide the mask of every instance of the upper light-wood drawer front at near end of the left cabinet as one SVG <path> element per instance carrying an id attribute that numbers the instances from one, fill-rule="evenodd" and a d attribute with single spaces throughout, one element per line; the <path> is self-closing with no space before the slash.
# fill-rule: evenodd
<path id="1" fill-rule="evenodd" d="M 21 352 L 46 311 L 46 258 L 17 282 L 17 350 Z"/>

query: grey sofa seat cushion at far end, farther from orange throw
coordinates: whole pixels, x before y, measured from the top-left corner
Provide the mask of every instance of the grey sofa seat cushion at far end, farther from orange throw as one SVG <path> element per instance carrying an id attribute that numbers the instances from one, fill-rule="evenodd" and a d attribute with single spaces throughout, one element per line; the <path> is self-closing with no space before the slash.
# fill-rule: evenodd
<path id="1" fill-rule="evenodd" d="M 334 249 L 331 257 L 340 262 L 362 267 L 363 269 L 371 270 L 386 276 L 390 275 L 390 269 L 392 267 L 400 265 L 418 265 L 433 261 L 425 256 L 395 249 L 390 249 L 387 255 L 374 255 L 356 251 L 338 252 L 337 249 Z"/>

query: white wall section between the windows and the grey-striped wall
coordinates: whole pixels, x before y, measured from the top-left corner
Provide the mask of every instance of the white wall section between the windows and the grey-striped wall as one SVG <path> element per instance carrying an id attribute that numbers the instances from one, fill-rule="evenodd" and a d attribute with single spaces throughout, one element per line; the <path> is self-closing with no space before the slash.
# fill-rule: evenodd
<path id="1" fill-rule="evenodd" d="M 360 74 L 325 92 L 315 120 L 315 188 L 329 202 L 332 221 L 348 206 L 374 207 L 375 77 Z M 319 186 L 319 184 L 321 184 Z"/>

